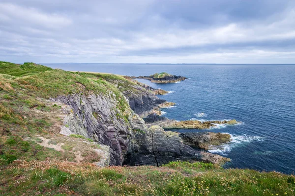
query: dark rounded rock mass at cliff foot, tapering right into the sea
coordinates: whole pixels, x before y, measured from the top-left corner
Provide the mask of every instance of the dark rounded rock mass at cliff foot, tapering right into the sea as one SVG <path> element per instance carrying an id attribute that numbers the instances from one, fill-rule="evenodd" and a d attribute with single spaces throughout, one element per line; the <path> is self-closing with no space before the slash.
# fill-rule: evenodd
<path id="1" fill-rule="evenodd" d="M 160 166 L 170 161 L 189 160 L 223 164 L 229 161 L 220 155 L 201 152 L 183 143 L 178 134 L 151 126 L 134 134 L 124 164 Z"/>

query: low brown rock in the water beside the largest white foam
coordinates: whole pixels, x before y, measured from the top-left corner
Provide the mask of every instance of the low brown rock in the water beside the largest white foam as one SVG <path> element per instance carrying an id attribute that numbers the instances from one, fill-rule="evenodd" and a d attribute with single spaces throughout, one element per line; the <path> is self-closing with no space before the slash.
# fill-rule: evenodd
<path id="1" fill-rule="evenodd" d="M 227 133 L 194 132 L 180 133 L 184 144 L 191 147 L 208 150 L 211 146 L 219 146 L 231 141 L 231 135 Z"/>

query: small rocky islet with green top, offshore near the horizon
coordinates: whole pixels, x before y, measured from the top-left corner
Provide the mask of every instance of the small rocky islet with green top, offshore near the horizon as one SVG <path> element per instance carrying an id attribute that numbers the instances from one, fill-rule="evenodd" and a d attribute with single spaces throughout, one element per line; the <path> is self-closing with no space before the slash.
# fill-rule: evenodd
<path id="1" fill-rule="evenodd" d="M 187 79 L 186 77 L 183 77 L 183 76 L 177 76 L 177 75 L 171 75 L 169 73 L 155 73 L 153 75 L 150 75 L 150 76 L 138 76 L 138 77 L 135 77 L 135 78 L 143 78 L 143 79 L 148 79 L 150 80 L 151 82 L 154 82 L 154 83 L 175 83 L 175 82 L 178 82 L 178 81 L 182 81 L 182 80 L 185 80 Z"/>

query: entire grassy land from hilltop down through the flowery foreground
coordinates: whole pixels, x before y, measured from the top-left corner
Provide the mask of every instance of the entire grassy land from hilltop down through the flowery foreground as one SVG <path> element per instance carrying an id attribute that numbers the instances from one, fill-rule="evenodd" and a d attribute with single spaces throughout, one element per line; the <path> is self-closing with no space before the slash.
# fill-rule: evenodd
<path id="1" fill-rule="evenodd" d="M 0 62 L 0 195 L 294 195 L 295 177 L 277 172 L 224 170 L 187 162 L 159 168 L 104 169 L 91 163 L 67 162 L 73 160 L 73 154 L 42 147 L 37 140 L 24 140 L 57 135 L 53 125 L 61 120 L 53 117 L 60 108 L 40 98 L 109 90 L 120 97 L 118 89 L 107 81 L 128 80 L 112 74 L 70 73 L 27 65 Z M 120 109 L 128 109 L 121 100 Z"/>

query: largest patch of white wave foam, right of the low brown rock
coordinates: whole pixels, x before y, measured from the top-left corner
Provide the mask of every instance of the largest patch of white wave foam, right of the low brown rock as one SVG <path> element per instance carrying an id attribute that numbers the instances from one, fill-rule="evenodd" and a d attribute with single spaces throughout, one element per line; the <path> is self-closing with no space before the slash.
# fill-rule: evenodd
<path id="1" fill-rule="evenodd" d="M 229 134 L 229 133 L 227 133 Z M 221 155 L 227 155 L 232 148 L 237 147 L 240 144 L 243 143 L 249 143 L 249 142 L 253 142 L 253 141 L 259 141 L 259 142 L 263 142 L 263 138 L 260 136 L 250 136 L 250 135 L 231 135 L 231 142 L 227 143 L 227 144 L 222 144 L 218 147 L 211 147 L 211 149 L 209 149 L 208 151 L 211 153 L 218 153 Z"/>

